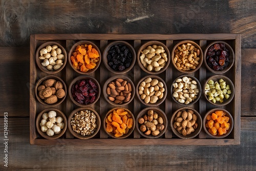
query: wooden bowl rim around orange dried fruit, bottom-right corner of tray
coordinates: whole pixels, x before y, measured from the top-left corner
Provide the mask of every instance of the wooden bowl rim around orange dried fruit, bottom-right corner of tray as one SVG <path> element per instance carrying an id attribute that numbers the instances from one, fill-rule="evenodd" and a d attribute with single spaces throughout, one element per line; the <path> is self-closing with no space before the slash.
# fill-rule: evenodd
<path id="1" fill-rule="evenodd" d="M 211 115 L 212 113 L 214 113 L 214 112 L 216 112 L 216 111 L 224 111 L 224 112 L 226 113 L 226 116 L 229 117 L 228 123 L 230 123 L 230 127 L 229 127 L 229 129 L 227 130 L 227 133 L 226 133 L 226 134 L 223 134 L 223 135 L 218 135 L 218 134 L 217 134 L 217 135 L 211 135 L 211 134 L 209 133 L 209 131 L 208 131 L 208 128 L 205 126 L 205 125 L 207 124 L 207 119 L 206 119 L 206 117 L 207 117 L 208 115 Z M 234 125 L 234 121 L 233 121 L 232 115 L 231 115 L 227 110 L 221 109 L 221 108 L 216 108 L 216 109 L 212 109 L 212 110 L 208 111 L 208 112 L 206 113 L 206 115 L 204 116 L 204 119 L 203 119 L 204 131 L 205 131 L 210 137 L 212 137 L 212 138 L 224 138 L 224 137 L 228 136 L 228 135 L 231 133 L 232 129 L 233 129 L 233 125 Z"/>

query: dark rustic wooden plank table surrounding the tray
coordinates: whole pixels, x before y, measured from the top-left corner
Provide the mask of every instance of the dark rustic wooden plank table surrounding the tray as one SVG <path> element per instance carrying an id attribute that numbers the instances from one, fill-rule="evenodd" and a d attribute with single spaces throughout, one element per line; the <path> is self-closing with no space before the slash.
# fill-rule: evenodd
<path id="1" fill-rule="evenodd" d="M 0 11 L 0 170 L 256 170 L 255 1 L 2 0 Z M 240 145 L 30 145 L 29 46 L 39 33 L 241 34 Z"/>

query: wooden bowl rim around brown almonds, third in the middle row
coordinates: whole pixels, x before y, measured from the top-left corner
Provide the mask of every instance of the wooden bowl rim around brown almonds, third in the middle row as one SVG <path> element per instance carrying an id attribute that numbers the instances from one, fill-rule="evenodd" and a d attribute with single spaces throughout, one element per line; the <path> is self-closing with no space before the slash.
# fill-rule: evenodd
<path id="1" fill-rule="evenodd" d="M 114 101 L 111 101 L 111 100 L 109 99 L 109 96 L 110 96 L 110 95 L 108 95 L 108 94 L 106 93 L 106 89 L 108 88 L 109 83 L 111 83 L 112 81 L 115 81 L 115 80 L 118 79 L 118 78 L 122 78 L 122 79 L 126 80 L 127 82 L 129 82 L 129 83 L 131 84 L 131 86 L 132 86 L 132 89 L 133 89 L 133 91 L 131 92 L 131 93 L 132 93 L 132 94 L 131 94 L 131 99 L 130 99 L 129 101 L 127 101 L 127 102 L 122 103 L 122 104 L 115 103 Z M 115 105 L 115 106 L 123 106 L 123 105 L 129 104 L 131 101 L 133 101 L 133 98 L 134 98 L 134 96 L 135 96 L 135 92 L 136 92 L 136 91 L 135 91 L 135 86 L 134 86 L 133 81 L 132 81 L 129 77 L 124 76 L 124 75 L 118 75 L 118 76 L 110 77 L 108 80 L 106 80 L 106 82 L 104 83 L 104 86 L 103 86 L 103 95 L 104 95 L 104 98 L 105 98 L 106 101 L 108 101 L 110 104 Z"/>

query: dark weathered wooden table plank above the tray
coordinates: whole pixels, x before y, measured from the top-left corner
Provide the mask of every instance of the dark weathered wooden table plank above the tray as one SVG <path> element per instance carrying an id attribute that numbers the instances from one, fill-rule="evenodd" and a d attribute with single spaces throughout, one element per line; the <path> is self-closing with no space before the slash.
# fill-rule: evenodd
<path id="1" fill-rule="evenodd" d="M 255 1 L 1 1 L 0 47 L 38 33 L 241 33 L 256 48 Z"/>

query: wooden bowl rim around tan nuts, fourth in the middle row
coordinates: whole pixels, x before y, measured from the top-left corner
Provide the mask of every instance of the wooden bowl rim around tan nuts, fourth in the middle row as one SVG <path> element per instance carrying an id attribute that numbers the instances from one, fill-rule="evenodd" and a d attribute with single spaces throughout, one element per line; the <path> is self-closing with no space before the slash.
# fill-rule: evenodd
<path id="1" fill-rule="evenodd" d="M 158 101 L 156 103 L 145 103 L 145 101 L 142 100 L 140 98 L 140 95 L 139 95 L 140 84 L 141 84 L 142 81 L 144 81 L 148 77 L 151 77 L 152 79 L 158 79 L 158 81 L 161 81 L 163 83 L 163 88 L 165 89 L 163 98 L 162 99 L 158 99 Z M 157 76 L 157 75 L 146 75 L 146 76 L 144 76 L 143 78 L 141 78 L 139 80 L 139 82 L 138 82 L 138 84 L 136 86 L 136 94 L 137 94 L 137 97 L 139 98 L 140 102 L 143 103 L 144 105 L 151 106 L 151 107 L 158 106 L 162 102 L 164 102 L 164 100 L 165 100 L 165 98 L 167 96 L 167 86 L 166 86 L 166 83 L 164 82 L 164 80 L 162 78 L 160 78 L 159 76 Z"/>

